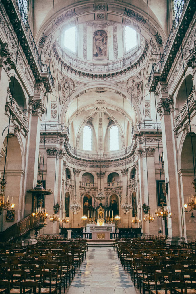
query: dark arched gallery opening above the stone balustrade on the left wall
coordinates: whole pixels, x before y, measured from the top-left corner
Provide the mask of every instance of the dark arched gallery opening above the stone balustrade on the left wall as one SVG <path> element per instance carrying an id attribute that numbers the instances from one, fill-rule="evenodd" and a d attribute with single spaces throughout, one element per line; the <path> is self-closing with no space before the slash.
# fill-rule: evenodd
<path id="1" fill-rule="evenodd" d="M 14 90 L 13 90 L 13 84 L 14 84 Z M 13 94 L 13 97 L 16 100 L 16 102 L 18 103 L 21 110 L 26 110 L 27 103 L 26 103 L 24 90 L 23 90 L 23 88 L 17 78 L 15 78 L 15 81 L 14 81 L 14 76 L 10 77 L 9 88 L 10 88 L 10 93 Z M 13 91 L 13 93 L 12 93 L 12 91 Z"/>

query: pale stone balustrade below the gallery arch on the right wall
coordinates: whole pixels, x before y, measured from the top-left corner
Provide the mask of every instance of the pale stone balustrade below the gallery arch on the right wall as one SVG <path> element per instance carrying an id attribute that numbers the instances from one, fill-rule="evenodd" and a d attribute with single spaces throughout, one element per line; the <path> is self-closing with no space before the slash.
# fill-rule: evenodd
<path id="1" fill-rule="evenodd" d="M 189 111 L 192 112 L 193 106 L 196 104 L 196 94 L 195 94 L 195 88 L 193 89 L 193 91 L 190 93 L 190 95 L 188 96 L 188 106 L 189 106 Z M 188 108 L 187 108 L 187 101 L 185 101 L 184 105 L 182 106 L 182 108 L 180 109 L 179 113 L 177 114 L 177 116 L 175 116 L 174 119 L 174 123 L 175 123 L 175 128 L 177 127 L 177 125 L 179 125 L 183 119 L 187 119 L 187 112 L 188 112 Z"/>

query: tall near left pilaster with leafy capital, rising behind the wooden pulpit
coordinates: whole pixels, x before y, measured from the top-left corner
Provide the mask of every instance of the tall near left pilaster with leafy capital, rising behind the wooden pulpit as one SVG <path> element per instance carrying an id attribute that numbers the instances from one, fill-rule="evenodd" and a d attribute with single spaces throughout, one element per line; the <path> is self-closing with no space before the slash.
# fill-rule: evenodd
<path id="1" fill-rule="evenodd" d="M 36 86 L 34 97 L 29 99 L 29 135 L 26 146 L 26 190 L 33 189 L 37 184 L 39 141 L 41 116 L 45 113 L 42 103 L 44 94 L 43 84 Z M 32 193 L 26 192 L 25 216 L 32 212 Z"/>

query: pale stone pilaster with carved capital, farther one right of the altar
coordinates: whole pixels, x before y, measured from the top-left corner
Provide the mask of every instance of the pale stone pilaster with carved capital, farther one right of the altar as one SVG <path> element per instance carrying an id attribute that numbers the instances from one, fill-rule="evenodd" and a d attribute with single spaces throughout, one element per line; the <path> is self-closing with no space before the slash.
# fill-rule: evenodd
<path id="1" fill-rule="evenodd" d="M 140 196 L 142 203 L 150 206 L 150 213 L 155 217 L 157 207 L 156 180 L 155 180 L 155 149 L 156 147 L 142 147 L 137 150 L 139 156 L 139 176 L 140 176 Z M 147 157 L 146 157 L 147 156 Z M 148 171 L 148 175 L 147 175 Z M 148 181 L 147 181 L 148 180 Z M 155 217 L 154 222 L 144 221 L 144 212 L 142 209 L 142 222 L 144 234 L 158 234 L 158 221 Z"/>

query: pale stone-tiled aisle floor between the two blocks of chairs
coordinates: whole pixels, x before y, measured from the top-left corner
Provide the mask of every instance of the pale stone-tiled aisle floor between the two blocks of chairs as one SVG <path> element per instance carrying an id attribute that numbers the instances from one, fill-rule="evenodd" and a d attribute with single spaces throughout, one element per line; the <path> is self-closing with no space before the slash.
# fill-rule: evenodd
<path id="1" fill-rule="evenodd" d="M 68 294 L 139 294 L 130 273 L 123 269 L 112 248 L 89 248 L 82 270 L 76 269 Z"/>

